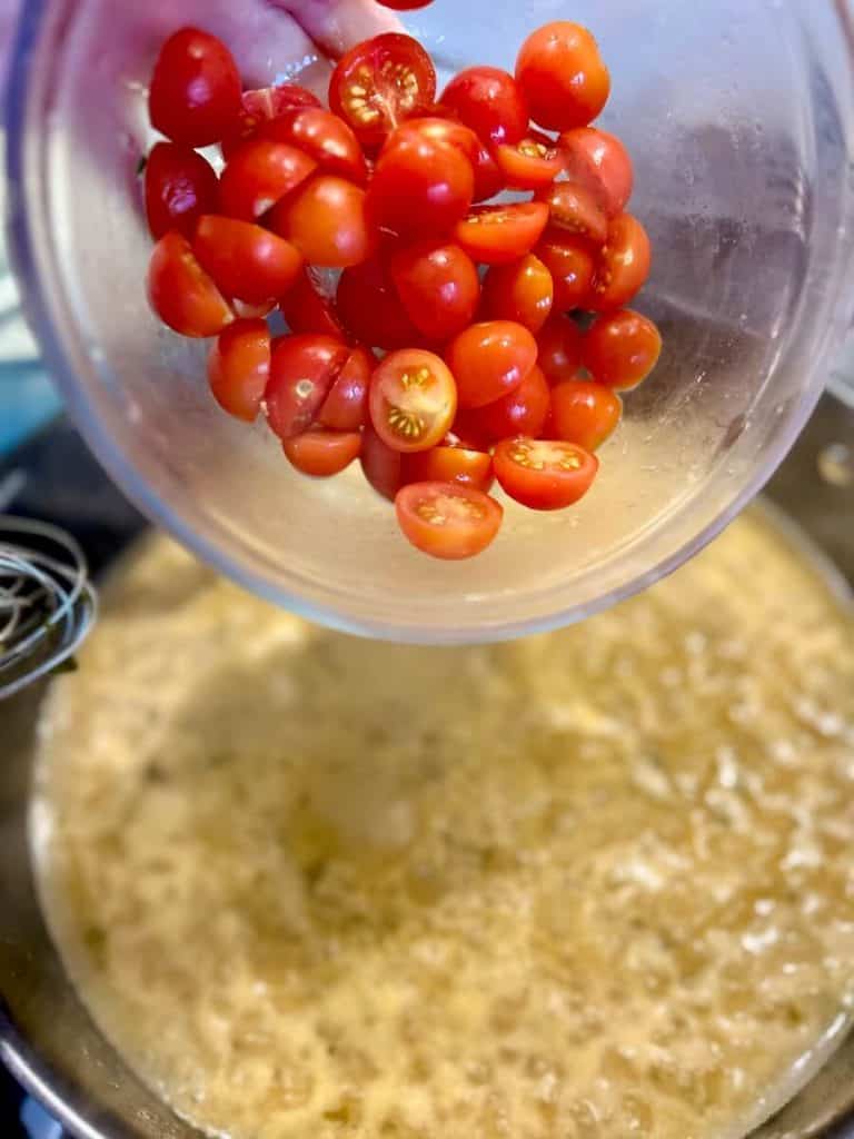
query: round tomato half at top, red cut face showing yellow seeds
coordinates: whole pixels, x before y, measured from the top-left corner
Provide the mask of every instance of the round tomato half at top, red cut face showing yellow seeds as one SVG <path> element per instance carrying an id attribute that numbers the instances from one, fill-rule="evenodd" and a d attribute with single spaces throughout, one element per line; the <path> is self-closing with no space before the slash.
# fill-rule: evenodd
<path id="1" fill-rule="evenodd" d="M 358 43 L 338 60 L 329 106 L 364 147 L 379 147 L 404 118 L 422 115 L 436 96 L 436 71 L 410 35 L 387 32 Z"/>

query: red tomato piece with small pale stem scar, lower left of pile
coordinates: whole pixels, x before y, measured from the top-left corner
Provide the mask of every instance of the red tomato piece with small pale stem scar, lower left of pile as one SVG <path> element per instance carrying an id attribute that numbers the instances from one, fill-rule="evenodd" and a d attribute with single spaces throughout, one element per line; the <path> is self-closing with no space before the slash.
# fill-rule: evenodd
<path id="1" fill-rule="evenodd" d="M 264 409 L 279 439 L 311 427 L 348 351 L 331 336 L 303 333 L 273 341 Z"/>

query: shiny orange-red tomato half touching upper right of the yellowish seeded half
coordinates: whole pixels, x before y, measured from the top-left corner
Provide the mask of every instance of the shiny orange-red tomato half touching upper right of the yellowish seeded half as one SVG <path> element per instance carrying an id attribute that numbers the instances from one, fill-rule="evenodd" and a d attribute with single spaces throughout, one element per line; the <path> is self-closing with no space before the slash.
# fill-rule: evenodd
<path id="1" fill-rule="evenodd" d="M 536 363 L 536 341 L 511 320 L 471 325 L 447 346 L 460 407 L 482 408 L 512 392 Z"/>

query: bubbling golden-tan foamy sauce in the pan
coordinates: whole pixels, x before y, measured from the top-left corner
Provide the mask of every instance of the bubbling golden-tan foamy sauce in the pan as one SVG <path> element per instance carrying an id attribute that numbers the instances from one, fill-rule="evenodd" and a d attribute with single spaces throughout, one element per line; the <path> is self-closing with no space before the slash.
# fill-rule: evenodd
<path id="1" fill-rule="evenodd" d="M 83 999 L 236 1139 L 723 1139 L 854 994 L 854 637 L 757 514 L 573 629 L 306 625 L 165 539 L 46 714 Z"/>

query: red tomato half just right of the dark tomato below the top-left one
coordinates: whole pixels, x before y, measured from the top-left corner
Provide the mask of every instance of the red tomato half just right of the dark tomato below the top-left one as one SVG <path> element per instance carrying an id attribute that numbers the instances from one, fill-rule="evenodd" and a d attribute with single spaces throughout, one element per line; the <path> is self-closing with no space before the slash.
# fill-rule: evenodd
<path id="1" fill-rule="evenodd" d="M 296 147 L 251 139 L 225 164 L 220 208 L 229 218 L 255 221 L 317 169 L 314 159 Z"/>

